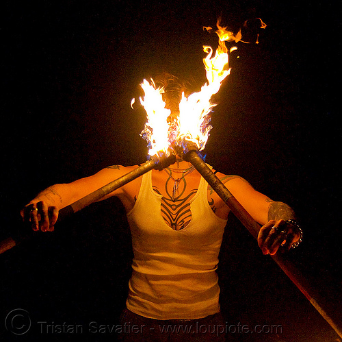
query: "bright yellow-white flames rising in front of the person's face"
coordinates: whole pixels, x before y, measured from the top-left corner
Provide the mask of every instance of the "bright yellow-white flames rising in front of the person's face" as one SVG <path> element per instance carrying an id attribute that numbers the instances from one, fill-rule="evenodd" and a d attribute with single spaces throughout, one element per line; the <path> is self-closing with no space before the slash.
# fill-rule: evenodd
<path id="1" fill-rule="evenodd" d="M 165 108 L 162 99 L 163 88 L 156 88 L 153 80 L 151 83 L 144 80 L 141 84 L 144 90 L 144 97 L 140 98 L 140 103 L 144 106 L 147 114 L 147 123 L 142 131 L 143 138 L 148 141 L 148 154 L 158 155 L 164 152 L 168 156 L 170 149 L 182 147 L 187 141 L 196 143 L 201 151 L 205 148 L 211 130 L 210 113 L 215 103 L 211 102 L 211 97 L 218 93 L 223 80 L 229 75 L 231 69 L 228 66 L 228 49 L 226 41 L 239 42 L 241 40 L 241 30 L 235 35 L 226 27 L 216 24 L 218 29 L 219 46 L 213 53 L 209 46 L 203 46 L 203 51 L 207 56 L 203 59 L 207 83 L 204 84 L 198 93 L 192 93 L 188 97 L 182 95 L 179 104 L 179 117 L 172 122 L 168 122 L 170 110 Z M 211 32 L 211 27 L 204 27 Z M 237 49 L 232 47 L 230 51 Z M 169 120 L 170 121 L 170 120 Z"/>

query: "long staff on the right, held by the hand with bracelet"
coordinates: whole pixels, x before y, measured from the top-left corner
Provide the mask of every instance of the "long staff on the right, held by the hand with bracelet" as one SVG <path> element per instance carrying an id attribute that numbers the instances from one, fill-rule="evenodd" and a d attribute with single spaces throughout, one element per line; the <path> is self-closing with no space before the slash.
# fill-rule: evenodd
<path id="1" fill-rule="evenodd" d="M 207 164 L 198 156 L 198 149 L 193 145 L 188 145 L 187 149 L 183 152 L 184 160 L 191 162 L 195 169 L 202 175 L 208 184 L 215 190 L 221 197 L 224 203 L 231 209 L 233 214 L 241 221 L 241 223 L 248 229 L 250 234 L 257 239 L 260 225 L 250 216 L 246 209 L 241 206 L 239 201 L 231 194 L 230 191 L 224 186 L 220 179 L 209 169 Z M 311 286 L 308 280 L 300 272 L 300 270 L 293 265 L 293 263 L 286 258 L 285 254 L 277 253 L 271 256 L 278 266 L 285 272 L 290 280 L 298 287 L 298 289 L 305 295 L 305 297 L 313 304 L 319 314 L 326 319 L 330 326 L 342 337 L 341 323 L 338 325 L 331 315 L 328 315 L 326 308 L 324 308 L 324 300 L 318 292 Z M 332 314 L 332 313 L 331 313 Z"/>

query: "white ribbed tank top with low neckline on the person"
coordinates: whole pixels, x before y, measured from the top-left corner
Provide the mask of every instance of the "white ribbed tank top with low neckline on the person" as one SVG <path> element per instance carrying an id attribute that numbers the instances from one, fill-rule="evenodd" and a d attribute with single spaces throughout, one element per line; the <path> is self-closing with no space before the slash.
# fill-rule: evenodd
<path id="1" fill-rule="evenodd" d="M 152 172 L 142 176 L 133 209 L 127 214 L 133 244 L 133 273 L 127 308 L 153 319 L 198 319 L 218 313 L 220 288 L 215 270 L 226 220 L 217 217 L 201 178 L 190 201 L 192 220 L 173 230 L 161 216 L 161 195 Z"/>

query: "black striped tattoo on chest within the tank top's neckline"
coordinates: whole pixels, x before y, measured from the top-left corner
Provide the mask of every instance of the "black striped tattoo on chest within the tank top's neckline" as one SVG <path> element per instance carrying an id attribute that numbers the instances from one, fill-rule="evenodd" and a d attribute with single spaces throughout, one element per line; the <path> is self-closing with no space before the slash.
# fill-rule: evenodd
<path id="1" fill-rule="evenodd" d="M 172 191 L 170 193 L 169 188 L 173 187 L 173 182 L 174 181 L 171 180 L 171 178 L 168 178 L 166 181 L 166 196 L 161 194 L 157 186 L 153 186 L 153 190 L 163 196 L 161 197 L 160 210 L 164 221 L 166 221 L 173 230 L 181 230 L 185 228 L 192 219 L 190 199 L 196 194 L 197 189 L 195 188 L 187 192 L 187 182 L 185 178 L 183 178 L 179 184 L 176 197 L 172 199 Z"/>

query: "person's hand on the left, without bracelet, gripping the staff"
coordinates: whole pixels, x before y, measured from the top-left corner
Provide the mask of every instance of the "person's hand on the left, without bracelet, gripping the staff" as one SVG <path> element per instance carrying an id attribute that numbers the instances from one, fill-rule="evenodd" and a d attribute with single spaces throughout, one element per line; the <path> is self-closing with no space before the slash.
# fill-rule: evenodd
<path id="1" fill-rule="evenodd" d="M 21 210 L 21 217 L 34 231 L 53 232 L 58 212 L 56 206 L 49 206 L 46 201 L 30 202 Z"/>

